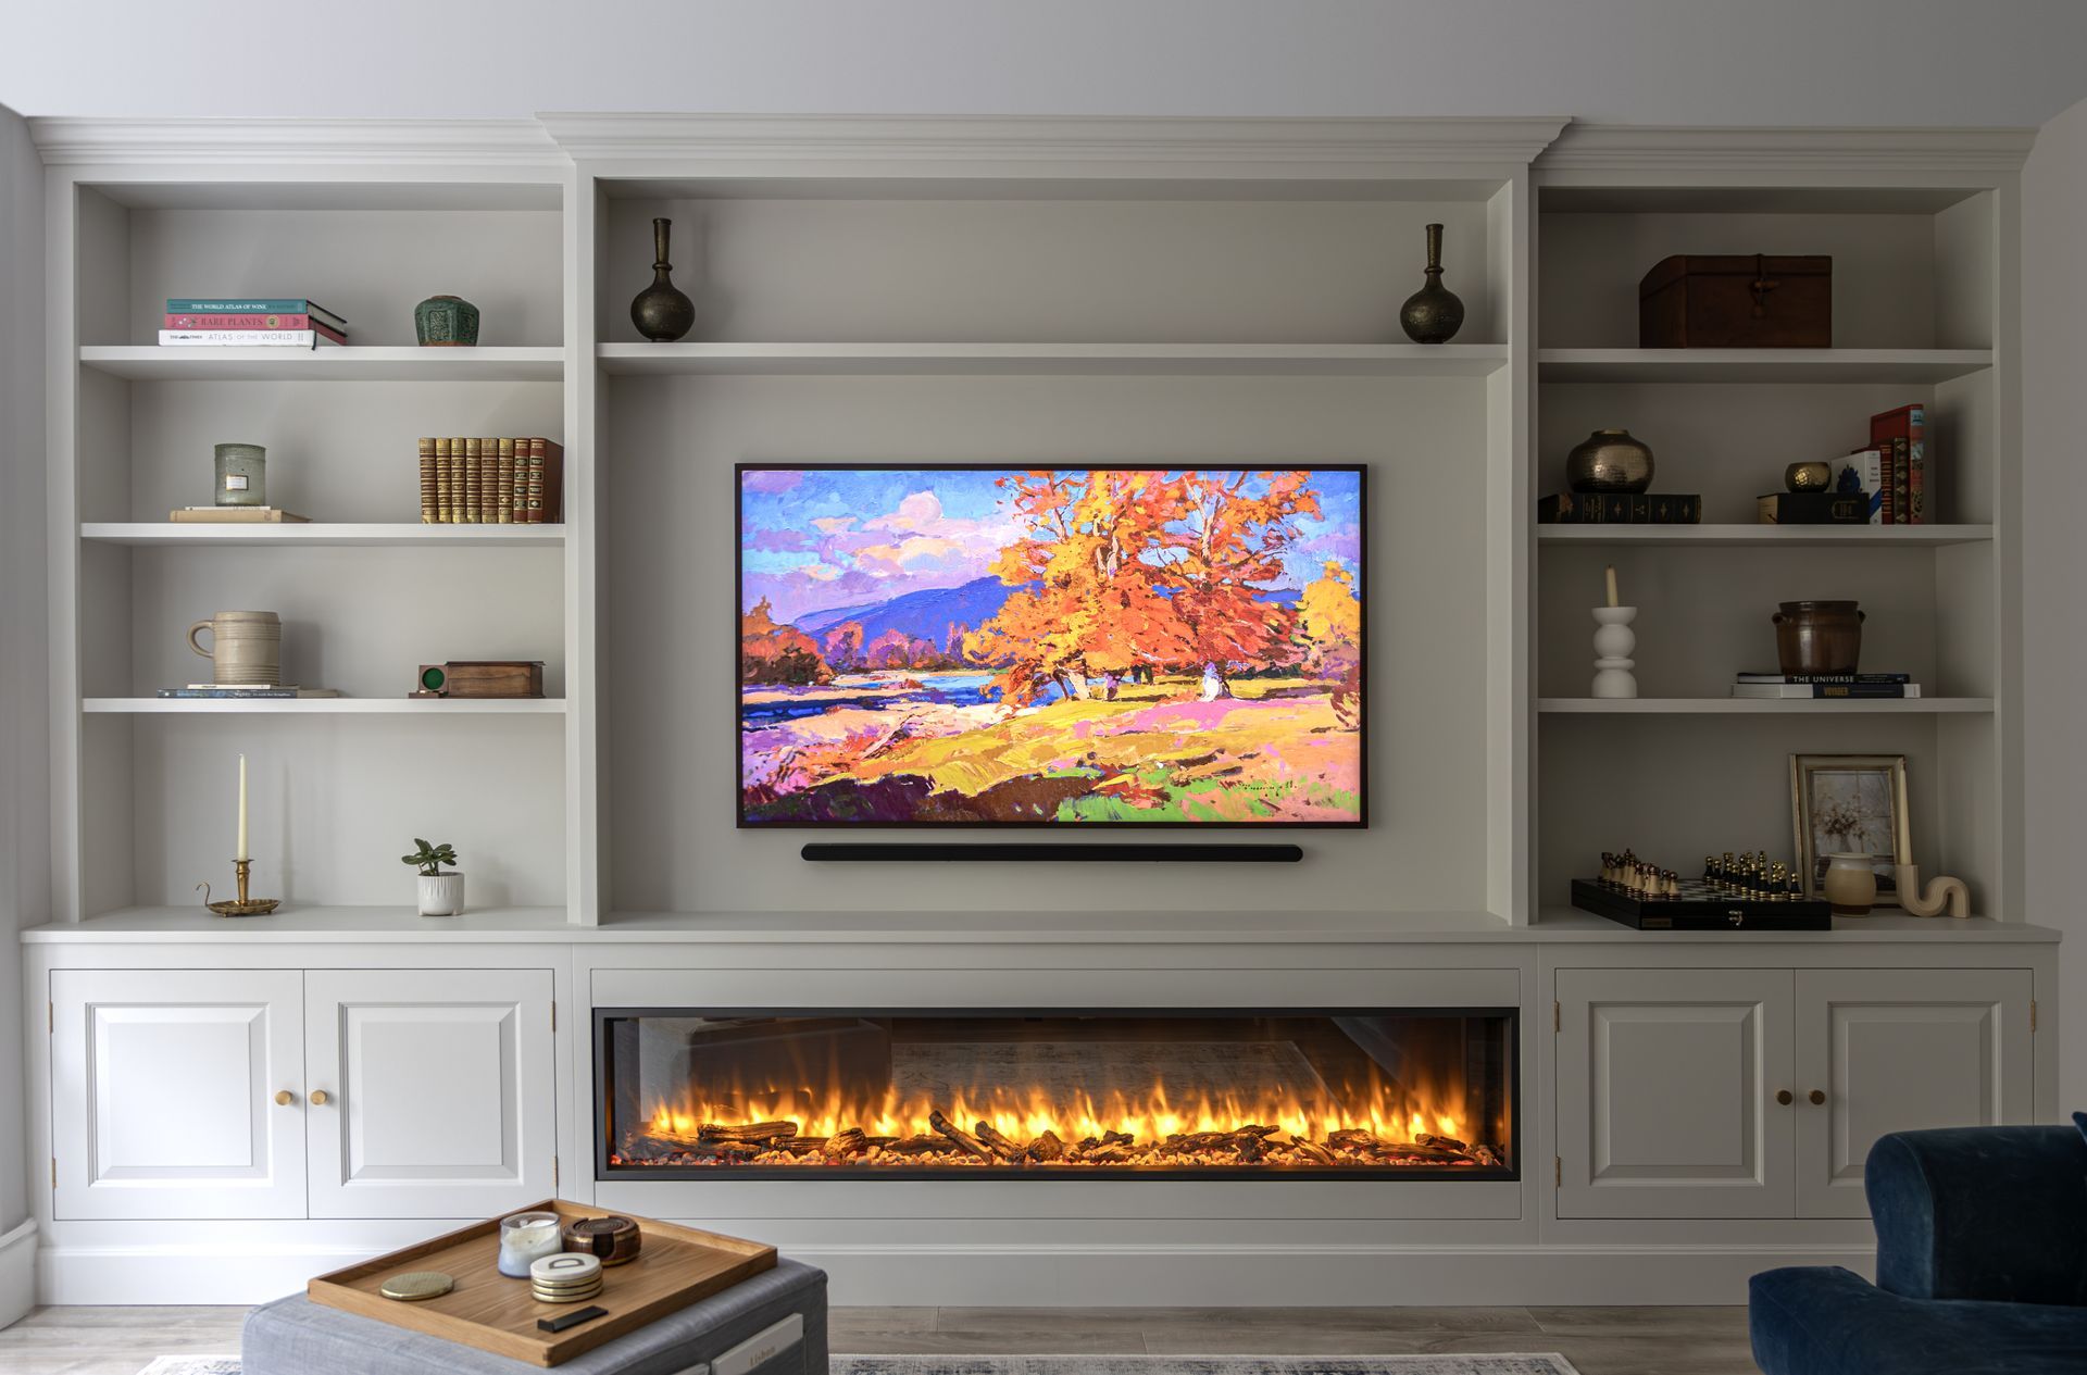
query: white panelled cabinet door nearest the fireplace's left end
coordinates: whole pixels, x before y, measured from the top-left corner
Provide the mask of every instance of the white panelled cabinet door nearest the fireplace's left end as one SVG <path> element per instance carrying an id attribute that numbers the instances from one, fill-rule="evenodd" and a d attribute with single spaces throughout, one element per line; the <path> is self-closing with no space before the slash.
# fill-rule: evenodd
<path id="1" fill-rule="evenodd" d="M 467 1219 L 555 1193 L 549 970 L 305 974 L 311 1216 Z"/>

